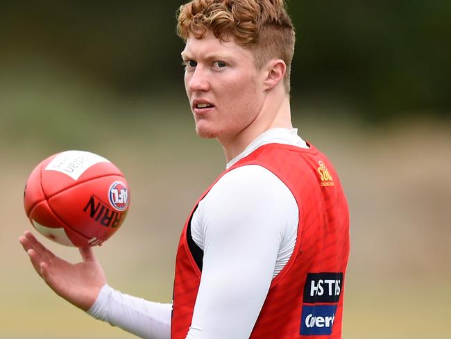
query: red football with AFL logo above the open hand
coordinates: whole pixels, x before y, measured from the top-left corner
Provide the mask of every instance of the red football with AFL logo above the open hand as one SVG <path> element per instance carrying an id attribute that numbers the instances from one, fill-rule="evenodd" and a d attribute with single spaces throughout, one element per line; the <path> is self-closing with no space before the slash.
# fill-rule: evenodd
<path id="1" fill-rule="evenodd" d="M 124 175 L 87 151 L 64 151 L 33 169 L 24 207 L 33 227 L 61 245 L 101 245 L 121 226 L 130 207 Z"/>

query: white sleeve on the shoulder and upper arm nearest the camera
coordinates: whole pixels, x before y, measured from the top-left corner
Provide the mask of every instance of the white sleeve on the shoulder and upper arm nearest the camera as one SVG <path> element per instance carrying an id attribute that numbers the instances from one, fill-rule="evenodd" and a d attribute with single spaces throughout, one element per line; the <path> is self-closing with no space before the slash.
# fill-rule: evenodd
<path id="1" fill-rule="evenodd" d="M 225 174 L 196 213 L 203 270 L 187 338 L 248 338 L 285 233 L 297 226 L 296 200 L 269 170 L 247 165 Z"/>

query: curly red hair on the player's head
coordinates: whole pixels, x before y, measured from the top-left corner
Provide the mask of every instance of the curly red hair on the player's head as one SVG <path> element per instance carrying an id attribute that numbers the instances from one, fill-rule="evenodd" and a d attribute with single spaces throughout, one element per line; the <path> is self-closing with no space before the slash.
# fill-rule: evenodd
<path id="1" fill-rule="evenodd" d="M 257 69 L 280 58 L 287 65 L 284 83 L 289 90 L 295 33 L 284 0 L 192 0 L 178 10 L 177 32 L 187 40 L 212 32 L 220 40 L 232 38 L 254 52 Z"/>

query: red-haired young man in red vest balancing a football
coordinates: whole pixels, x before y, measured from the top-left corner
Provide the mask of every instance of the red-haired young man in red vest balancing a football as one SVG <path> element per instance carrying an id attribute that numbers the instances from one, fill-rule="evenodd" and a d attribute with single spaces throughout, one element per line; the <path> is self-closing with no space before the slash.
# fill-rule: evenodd
<path id="1" fill-rule="evenodd" d="M 348 207 L 332 164 L 291 126 L 284 1 L 194 0 L 178 32 L 196 131 L 228 164 L 182 231 L 173 304 L 110 288 L 91 249 L 71 265 L 29 232 L 20 242 L 58 295 L 142 338 L 341 338 Z"/>

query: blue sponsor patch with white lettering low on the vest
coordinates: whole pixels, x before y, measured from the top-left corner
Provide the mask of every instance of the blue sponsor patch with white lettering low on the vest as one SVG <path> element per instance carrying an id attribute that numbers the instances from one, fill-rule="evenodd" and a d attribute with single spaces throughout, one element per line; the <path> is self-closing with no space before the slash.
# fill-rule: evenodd
<path id="1" fill-rule="evenodd" d="M 332 334 L 337 305 L 304 305 L 300 323 L 301 336 Z"/>

